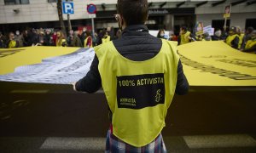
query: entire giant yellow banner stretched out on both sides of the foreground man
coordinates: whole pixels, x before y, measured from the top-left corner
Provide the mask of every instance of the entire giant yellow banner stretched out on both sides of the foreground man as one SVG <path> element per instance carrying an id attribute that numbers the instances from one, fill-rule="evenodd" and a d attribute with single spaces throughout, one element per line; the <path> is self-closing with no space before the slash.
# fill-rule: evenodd
<path id="1" fill-rule="evenodd" d="M 68 71 L 66 70 L 67 76 L 73 77 L 72 79 L 76 81 L 78 78 L 84 77 L 86 71 L 89 71 L 89 64 L 94 56 L 93 50 L 86 51 L 85 48 L 83 49 L 85 51 L 83 51 L 84 54 L 76 52 L 79 48 L 28 47 L 0 49 L 0 75 L 3 75 L 0 76 L 0 79 L 2 78 L 3 81 L 13 80 L 20 82 L 20 80 L 22 81 L 22 76 L 26 76 L 27 72 L 23 71 L 20 73 L 20 69 L 15 71 L 15 68 L 22 65 L 36 64 L 32 67 L 37 69 L 37 71 L 44 70 L 47 67 L 47 70 L 52 69 L 49 66 L 55 69 L 58 67 L 60 70 L 68 68 Z M 49 57 L 57 57 L 58 59 L 51 60 L 58 61 L 61 59 L 61 55 L 64 54 L 69 56 L 69 58 L 63 58 L 66 60 L 64 65 L 63 63 L 61 65 L 58 64 L 59 62 L 52 62 L 53 65 L 48 65 L 47 62 L 42 63 L 42 59 Z M 190 42 L 178 46 L 178 54 L 180 54 L 183 71 L 188 78 L 190 86 L 256 86 L 256 54 L 242 53 L 220 41 Z M 38 65 L 39 63 L 40 65 Z M 84 68 L 81 68 L 83 66 Z M 78 70 L 73 70 L 74 68 Z M 22 70 L 28 69 L 24 67 Z M 32 71 L 31 73 L 36 73 L 36 70 L 30 71 Z M 9 73 L 11 75 L 5 75 Z M 55 71 L 45 71 L 44 73 L 57 76 Z M 78 74 L 80 76 L 75 76 Z M 64 73 L 61 73 L 61 76 L 64 75 Z M 46 80 L 45 82 L 48 82 L 47 80 L 52 79 L 52 76 L 38 79 L 36 75 L 36 77 L 27 77 L 26 80 L 29 80 L 29 82 Z"/>

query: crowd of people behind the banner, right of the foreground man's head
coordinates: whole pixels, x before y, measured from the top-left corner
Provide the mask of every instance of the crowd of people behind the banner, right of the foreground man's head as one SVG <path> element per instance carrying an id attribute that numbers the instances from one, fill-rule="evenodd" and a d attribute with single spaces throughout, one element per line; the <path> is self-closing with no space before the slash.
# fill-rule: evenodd
<path id="1" fill-rule="evenodd" d="M 239 26 L 231 26 L 227 28 L 226 31 L 217 29 L 214 35 L 210 36 L 207 32 L 196 35 L 195 32 L 189 31 L 186 26 L 182 26 L 178 36 L 176 36 L 173 31 L 169 31 L 169 36 L 166 37 L 165 31 L 161 29 L 157 37 L 177 41 L 178 45 L 195 41 L 224 41 L 232 48 L 244 52 L 256 51 L 256 31 L 253 27 L 248 27 L 246 31 L 241 31 Z"/>

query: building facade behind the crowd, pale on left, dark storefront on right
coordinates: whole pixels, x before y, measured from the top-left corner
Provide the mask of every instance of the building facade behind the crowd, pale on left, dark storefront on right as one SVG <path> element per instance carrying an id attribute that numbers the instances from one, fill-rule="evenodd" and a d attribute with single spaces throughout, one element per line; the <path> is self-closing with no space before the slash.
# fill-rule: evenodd
<path id="1" fill-rule="evenodd" d="M 91 26 L 87 5 L 96 4 L 96 29 L 108 26 L 118 28 L 113 14 L 116 14 L 117 0 L 70 0 L 74 14 L 70 15 L 72 26 Z M 31 28 L 59 28 L 56 0 L 0 0 L 0 31 Z M 204 26 L 222 28 L 224 8 L 231 4 L 231 15 L 227 26 L 241 29 L 256 28 L 256 3 L 253 0 L 148 0 L 149 29 L 166 29 L 178 32 L 180 26 L 192 29 L 196 22 Z M 63 14 L 67 26 L 67 14 Z"/>

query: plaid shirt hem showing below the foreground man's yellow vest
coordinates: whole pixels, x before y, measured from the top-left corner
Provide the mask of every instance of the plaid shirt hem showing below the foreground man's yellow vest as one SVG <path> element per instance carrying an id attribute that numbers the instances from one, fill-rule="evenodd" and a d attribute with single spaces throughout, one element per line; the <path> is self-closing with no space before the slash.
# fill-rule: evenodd
<path id="1" fill-rule="evenodd" d="M 166 145 L 159 134 L 154 141 L 143 147 L 135 147 L 131 144 L 127 144 L 124 141 L 115 137 L 111 131 L 108 130 L 106 150 L 105 153 L 166 153 Z"/>

